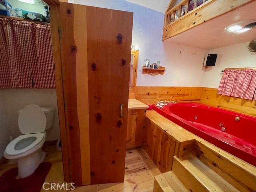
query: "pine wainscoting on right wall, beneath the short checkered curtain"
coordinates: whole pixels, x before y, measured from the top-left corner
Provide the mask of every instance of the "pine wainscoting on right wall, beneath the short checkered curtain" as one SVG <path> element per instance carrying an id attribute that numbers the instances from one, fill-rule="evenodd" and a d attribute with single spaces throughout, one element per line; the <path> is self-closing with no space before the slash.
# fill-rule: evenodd
<path id="1" fill-rule="evenodd" d="M 202 88 L 200 103 L 256 116 L 256 101 L 218 95 L 216 88 Z"/>

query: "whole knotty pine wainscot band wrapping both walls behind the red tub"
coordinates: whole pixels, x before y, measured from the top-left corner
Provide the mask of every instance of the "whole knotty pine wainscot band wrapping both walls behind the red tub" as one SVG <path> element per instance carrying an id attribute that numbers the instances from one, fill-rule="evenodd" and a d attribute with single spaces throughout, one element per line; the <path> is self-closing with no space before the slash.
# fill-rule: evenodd
<path id="1" fill-rule="evenodd" d="M 200 102 L 202 104 L 256 116 L 256 101 L 217 95 L 217 88 L 206 87 L 136 87 L 136 99 L 145 104 L 160 100 L 175 102 Z"/>

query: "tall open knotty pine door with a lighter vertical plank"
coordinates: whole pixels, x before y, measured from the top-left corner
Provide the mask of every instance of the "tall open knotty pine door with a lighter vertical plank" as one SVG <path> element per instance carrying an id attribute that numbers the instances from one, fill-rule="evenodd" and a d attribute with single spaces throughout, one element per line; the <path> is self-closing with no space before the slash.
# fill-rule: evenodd
<path id="1" fill-rule="evenodd" d="M 50 14 L 64 178 L 122 182 L 133 14 L 64 2 Z"/>

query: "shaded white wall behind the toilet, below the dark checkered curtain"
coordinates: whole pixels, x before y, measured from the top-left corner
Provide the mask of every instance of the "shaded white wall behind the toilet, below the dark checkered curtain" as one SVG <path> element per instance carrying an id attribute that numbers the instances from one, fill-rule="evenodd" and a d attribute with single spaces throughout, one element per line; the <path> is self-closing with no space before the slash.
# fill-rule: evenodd
<path id="1" fill-rule="evenodd" d="M 10 135 L 13 139 L 21 135 L 18 110 L 28 104 L 54 107 L 54 126 L 47 130 L 46 140 L 60 138 L 56 89 L 0 89 L 0 102 L 0 157 L 10 142 Z"/>

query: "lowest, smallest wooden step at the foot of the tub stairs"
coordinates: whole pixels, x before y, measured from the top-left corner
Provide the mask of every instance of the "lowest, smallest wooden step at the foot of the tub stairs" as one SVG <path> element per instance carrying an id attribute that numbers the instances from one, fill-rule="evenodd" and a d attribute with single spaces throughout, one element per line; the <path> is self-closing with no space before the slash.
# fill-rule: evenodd
<path id="1" fill-rule="evenodd" d="M 155 176 L 153 192 L 189 192 L 172 171 Z"/>

